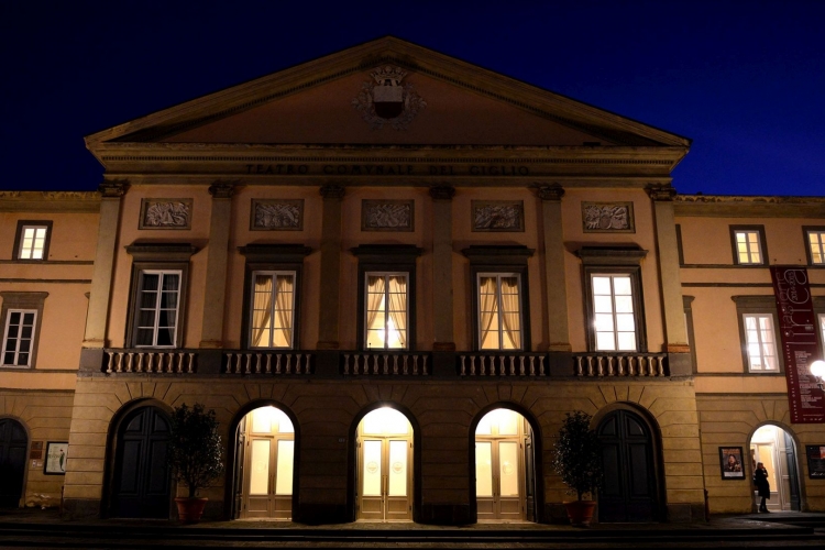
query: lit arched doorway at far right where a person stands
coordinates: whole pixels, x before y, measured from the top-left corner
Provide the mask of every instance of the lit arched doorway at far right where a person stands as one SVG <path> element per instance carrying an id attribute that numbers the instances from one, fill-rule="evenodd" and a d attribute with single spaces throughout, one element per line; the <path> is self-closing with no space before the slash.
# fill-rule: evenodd
<path id="1" fill-rule="evenodd" d="M 771 485 L 771 497 L 768 501 L 770 512 L 799 512 L 800 482 L 796 461 L 796 446 L 785 430 L 774 425 L 765 425 L 750 438 L 751 474 L 757 462 L 768 470 L 768 482 Z M 752 477 L 752 475 L 751 475 Z M 758 504 L 759 498 L 755 502 Z"/>

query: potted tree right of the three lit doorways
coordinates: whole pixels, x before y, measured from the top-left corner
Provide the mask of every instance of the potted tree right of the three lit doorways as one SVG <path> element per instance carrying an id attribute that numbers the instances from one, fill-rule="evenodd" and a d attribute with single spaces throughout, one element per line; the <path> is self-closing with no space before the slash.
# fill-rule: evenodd
<path id="1" fill-rule="evenodd" d="M 576 495 L 576 501 L 564 503 L 568 518 L 575 526 L 587 526 L 593 519 L 596 507 L 593 497 L 604 476 L 602 443 L 590 428 L 592 418 L 581 410 L 568 413 L 553 446 L 553 469 L 569 487 L 568 494 Z M 584 501 L 585 495 L 591 498 Z"/>

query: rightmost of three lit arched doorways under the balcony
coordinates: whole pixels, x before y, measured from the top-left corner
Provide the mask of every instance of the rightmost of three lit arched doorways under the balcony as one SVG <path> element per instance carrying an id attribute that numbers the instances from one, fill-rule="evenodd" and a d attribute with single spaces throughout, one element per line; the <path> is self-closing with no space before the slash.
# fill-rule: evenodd
<path id="1" fill-rule="evenodd" d="M 530 424 L 515 410 L 491 410 L 475 428 L 479 521 L 534 521 L 535 495 L 535 448 Z"/>

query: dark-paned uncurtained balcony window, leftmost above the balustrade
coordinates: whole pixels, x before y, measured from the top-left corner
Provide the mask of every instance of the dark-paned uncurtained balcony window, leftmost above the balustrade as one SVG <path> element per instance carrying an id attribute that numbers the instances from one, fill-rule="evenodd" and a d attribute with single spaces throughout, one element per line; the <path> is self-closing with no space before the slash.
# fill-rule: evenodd
<path id="1" fill-rule="evenodd" d="M 180 271 L 144 270 L 138 287 L 135 346 L 177 345 Z"/>

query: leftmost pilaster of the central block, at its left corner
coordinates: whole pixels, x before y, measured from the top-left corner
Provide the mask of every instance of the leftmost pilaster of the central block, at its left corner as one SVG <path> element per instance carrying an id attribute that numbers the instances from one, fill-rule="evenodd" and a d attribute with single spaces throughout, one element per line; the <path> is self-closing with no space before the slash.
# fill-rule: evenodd
<path id="1" fill-rule="evenodd" d="M 98 245 L 95 253 L 89 311 L 86 318 L 86 333 L 82 343 L 82 346 L 87 349 L 102 349 L 107 344 L 106 328 L 109 320 L 109 295 L 112 287 L 120 202 L 127 189 L 129 189 L 129 182 L 125 179 L 105 180 L 98 186 L 98 193 L 100 194 Z"/>

